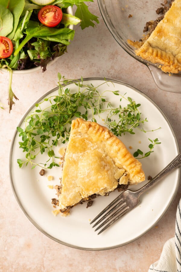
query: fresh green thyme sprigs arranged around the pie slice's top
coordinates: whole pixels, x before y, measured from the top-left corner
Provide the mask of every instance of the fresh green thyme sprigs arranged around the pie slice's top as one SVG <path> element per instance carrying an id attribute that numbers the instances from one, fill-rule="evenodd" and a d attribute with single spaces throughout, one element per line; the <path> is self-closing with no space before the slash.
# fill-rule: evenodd
<path id="1" fill-rule="evenodd" d="M 106 112 L 105 125 L 116 136 L 125 133 L 135 134 L 134 129 L 148 121 L 146 118 L 141 119 L 141 112 L 138 110 L 140 104 L 137 104 L 130 97 L 126 98 L 125 94 L 122 96 L 119 91 L 110 90 L 106 90 L 102 94 L 98 92 L 98 87 L 103 84 L 113 84 L 111 81 L 105 79 L 105 82 L 94 87 L 92 84 L 84 83 L 82 77 L 80 81 L 65 79 L 58 73 L 58 79 L 58 95 L 50 96 L 37 103 L 34 112 L 30 113 L 25 120 L 25 129 L 17 127 L 19 136 L 22 137 L 22 141 L 19 142 L 20 148 L 26 153 L 25 161 L 17 160 L 20 168 L 23 164 L 27 165 L 28 163 L 32 165 L 32 168 L 37 165 L 44 168 L 59 166 L 55 162 L 57 157 L 53 148 L 57 146 L 58 142 L 65 144 L 68 141 L 71 120 L 75 117 L 96 122 L 96 116 L 98 115 L 102 119 L 101 114 Z M 74 87 L 68 88 L 71 83 L 73 83 L 73 86 L 75 84 L 76 92 L 73 92 Z M 125 107 L 119 105 L 118 108 L 114 108 L 106 100 L 106 92 L 112 92 L 115 96 L 119 96 L 120 102 L 125 99 L 127 105 Z M 115 116 L 118 121 L 113 119 Z M 143 128 L 140 128 L 140 130 L 146 132 Z M 151 150 L 147 156 L 153 152 L 154 144 L 152 147 L 149 146 Z M 49 157 L 46 163 L 35 163 L 34 160 L 37 155 L 43 154 L 45 151 Z M 137 152 L 141 154 L 139 152 L 142 151 Z M 137 157 L 137 154 L 135 154 L 135 157 Z M 48 162 L 50 162 L 49 165 L 47 165 Z"/>

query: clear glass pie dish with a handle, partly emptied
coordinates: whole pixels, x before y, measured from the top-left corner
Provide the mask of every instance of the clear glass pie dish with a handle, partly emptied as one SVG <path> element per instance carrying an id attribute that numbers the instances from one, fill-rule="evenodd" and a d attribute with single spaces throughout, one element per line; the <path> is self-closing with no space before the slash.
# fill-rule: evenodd
<path id="1" fill-rule="evenodd" d="M 161 14 L 157 15 L 157 8 L 162 7 L 163 1 L 138 1 L 138 0 L 98 0 L 103 20 L 118 42 L 118 44 L 133 58 L 148 67 L 154 82 L 158 88 L 168 91 L 181 93 L 181 72 L 178 74 L 168 74 L 162 72 L 157 65 L 151 64 L 146 60 L 135 55 L 135 48 L 128 44 L 127 40 L 140 40 L 147 32 L 143 32 L 146 22 L 156 20 Z"/>

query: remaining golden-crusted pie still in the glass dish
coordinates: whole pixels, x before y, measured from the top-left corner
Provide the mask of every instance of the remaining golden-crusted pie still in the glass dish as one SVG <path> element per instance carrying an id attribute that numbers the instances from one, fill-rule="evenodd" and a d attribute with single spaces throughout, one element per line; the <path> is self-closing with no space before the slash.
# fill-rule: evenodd
<path id="1" fill-rule="evenodd" d="M 160 65 L 162 71 L 181 71 L 181 0 L 172 3 L 144 44 L 128 42 L 138 48 L 137 56 Z"/>

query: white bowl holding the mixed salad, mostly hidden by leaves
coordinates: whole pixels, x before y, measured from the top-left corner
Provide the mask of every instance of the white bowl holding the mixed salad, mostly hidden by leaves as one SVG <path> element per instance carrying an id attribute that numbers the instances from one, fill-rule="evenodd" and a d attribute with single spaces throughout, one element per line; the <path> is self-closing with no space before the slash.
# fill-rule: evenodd
<path id="1" fill-rule="evenodd" d="M 73 15 L 72 7 L 69 6 L 68 8 L 66 8 L 65 13 Z M 68 28 L 73 30 L 73 28 L 74 28 L 73 24 L 69 25 Z M 54 60 L 50 60 L 49 63 L 47 64 L 47 66 L 50 66 L 52 63 L 54 63 L 58 59 L 59 59 L 59 57 L 56 57 Z M 3 71 L 3 72 L 8 73 L 7 68 L 0 68 L 0 70 Z M 41 70 L 41 66 L 33 67 L 33 68 L 30 68 L 30 69 L 24 69 L 24 70 L 14 70 L 14 69 L 12 69 L 13 74 L 27 74 L 27 73 L 33 73 L 33 72 L 36 72 L 36 71 L 40 71 L 40 70 Z"/>

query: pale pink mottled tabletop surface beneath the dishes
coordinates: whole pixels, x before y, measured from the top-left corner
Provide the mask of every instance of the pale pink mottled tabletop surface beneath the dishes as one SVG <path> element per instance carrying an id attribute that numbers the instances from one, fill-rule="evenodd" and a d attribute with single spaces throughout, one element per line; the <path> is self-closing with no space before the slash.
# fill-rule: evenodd
<path id="1" fill-rule="evenodd" d="M 181 94 L 157 88 L 146 66 L 130 57 L 106 28 L 97 5 L 97 28 L 75 27 L 75 39 L 57 62 L 41 71 L 13 75 L 12 88 L 19 98 L 8 113 L 8 73 L 0 72 L 0 271 L 148 271 L 160 257 L 164 243 L 174 236 L 179 187 L 170 209 L 149 233 L 137 241 L 106 251 L 83 251 L 52 241 L 37 230 L 18 206 L 11 190 L 8 154 L 16 126 L 32 103 L 56 87 L 57 73 L 67 78 L 108 77 L 129 83 L 149 95 L 166 113 L 181 145 Z M 169 139 L 168 139 L 169 141 Z M 146 218 L 145 218 L 146 220 Z M 121 231 L 121 230 L 120 230 Z"/>

